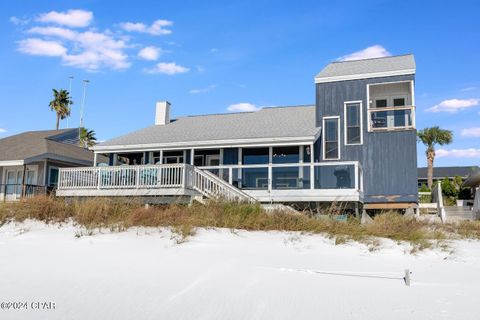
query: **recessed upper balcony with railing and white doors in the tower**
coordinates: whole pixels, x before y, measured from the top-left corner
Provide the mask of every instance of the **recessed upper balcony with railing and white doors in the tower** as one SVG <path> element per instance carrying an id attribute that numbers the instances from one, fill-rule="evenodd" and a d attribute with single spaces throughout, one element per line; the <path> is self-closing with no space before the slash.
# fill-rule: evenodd
<path id="1" fill-rule="evenodd" d="M 413 81 L 368 85 L 368 131 L 415 129 Z"/>

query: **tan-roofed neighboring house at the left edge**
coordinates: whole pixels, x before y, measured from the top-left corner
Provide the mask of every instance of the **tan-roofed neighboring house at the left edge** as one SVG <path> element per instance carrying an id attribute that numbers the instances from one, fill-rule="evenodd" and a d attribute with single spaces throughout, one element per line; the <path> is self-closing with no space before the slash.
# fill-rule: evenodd
<path id="1" fill-rule="evenodd" d="M 90 166 L 93 158 L 78 147 L 78 128 L 0 139 L 0 201 L 45 194 L 57 185 L 59 168 Z"/>

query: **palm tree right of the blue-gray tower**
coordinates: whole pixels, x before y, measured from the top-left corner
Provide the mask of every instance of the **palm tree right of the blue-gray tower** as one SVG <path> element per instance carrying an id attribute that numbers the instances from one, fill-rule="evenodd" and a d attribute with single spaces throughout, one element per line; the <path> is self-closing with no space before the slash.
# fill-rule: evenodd
<path id="1" fill-rule="evenodd" d="M 440 129 L 435 126 L 425 128 L 417 132 L 420 141 L 427 147 L 425 154 L 427 156 L 427 184 L 431 189 L 433 185 L 433 160 L 435 160 L 435 145 L 443 146 L 449 144 L 453 140 L 453 132 L 450 130 Z"/>

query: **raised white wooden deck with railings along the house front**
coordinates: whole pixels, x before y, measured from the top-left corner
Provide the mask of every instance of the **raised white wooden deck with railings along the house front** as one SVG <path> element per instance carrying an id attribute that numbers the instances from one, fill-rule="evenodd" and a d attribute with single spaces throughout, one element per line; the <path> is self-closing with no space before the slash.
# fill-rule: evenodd
<path id="1" fill-rule="evenodd" d="M 341 170 L 350 166 L 351 187 L 316 188 L 314 171 L 323 174 L 322 168 L 336 165 Z M 322 168 L 317 167 L 322 166 Z M 273 175 L 277 168 L 297 170 L 298 179 Z M 233 180 L 245 173 L 261 174 L 255 181 L 257 189 L 239 189 Z M 211 172 L 213 171 L 213 172 Z M 268 171 L 268 176 L 264 176 Z M 282 171 L 280 171 L 282 172 Z M 289 171 L 290 172 L 290 171 Z M 235 173 L 235 174 L 234 174 Z M 219 176 L 222 176 L 220 178 Z M 272 179 L 273 176 L 273 179 Z M 61 168 L 57 196 L 61 197 L 207 197 L 243 202 L 310 202 L 310 201 L 362 201 L 360 171 L 355 163 L 232 165 L 215 168 L 195 167 L 189 164 L 160 164 L 135 166 L 108 166 Z M 293 180 L 292 180 L 293 179 Z M 292 181 L 290 181 L 292 180 Z M 272 182 L 273 181 L 273 182 Z M 291 186 L 293 185 L 293 188 Z M 276 189 L 278 187 L 278 189 Z"/>

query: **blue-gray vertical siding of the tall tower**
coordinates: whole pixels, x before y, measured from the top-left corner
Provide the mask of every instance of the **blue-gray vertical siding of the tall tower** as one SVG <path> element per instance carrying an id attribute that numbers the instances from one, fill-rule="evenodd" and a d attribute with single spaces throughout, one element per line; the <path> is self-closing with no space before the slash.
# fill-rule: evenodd
<path id="1" fill-rule="evenodd" d="M 414 80 L 413 75 L 320 83 L 316 85 L 316 121 L 340 116 L 340 161 L 359 161 L 363 167 L 364 202 L 417 201 L 416 131 L 368 132 L 367 84 Z M 344 144 L 344 102 L 361 100 L 363 144 Z M 322 144 L 316 144 L 322 162 Z"/>

